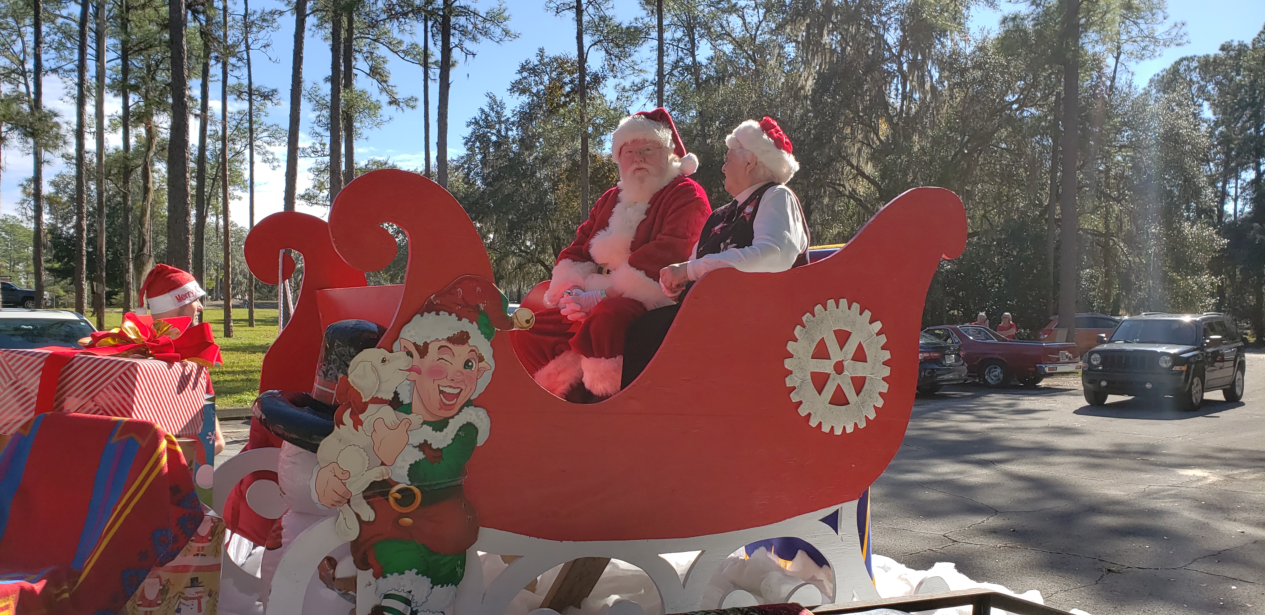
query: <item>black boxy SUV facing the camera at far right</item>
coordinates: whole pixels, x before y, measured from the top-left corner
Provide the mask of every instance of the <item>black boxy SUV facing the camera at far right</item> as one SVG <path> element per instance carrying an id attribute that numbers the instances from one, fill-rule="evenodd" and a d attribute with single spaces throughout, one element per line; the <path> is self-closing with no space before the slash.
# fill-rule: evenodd
<path id="1" fill-rule="evenodd" d="M 1080 372 L 1092 405 L 1108 395 L 1171 395 L 1179 409 L 1197 410 L 1207 391 L 1243 396 L 1243 337 L 1222 314 L 1142 314 L 1098 340 Z"/>

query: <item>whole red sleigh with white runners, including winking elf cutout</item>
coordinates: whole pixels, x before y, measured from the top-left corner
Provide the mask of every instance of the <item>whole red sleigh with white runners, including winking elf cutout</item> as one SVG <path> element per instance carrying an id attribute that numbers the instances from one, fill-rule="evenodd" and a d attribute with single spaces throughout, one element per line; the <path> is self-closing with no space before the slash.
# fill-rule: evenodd
<path id="1" fill-rule="evenodd" d="M 781 537 L 829 563 L 822 602 L 877 597 L 846 520 L 904 437 L 926 290 L 965 245 L 953 192 L 904 192 L 803 267 L 708 273 L 641 376 L 591 405 L 528 376 L 510 329 L 530 325 L 544 286 L 509 314 L 474 225 L 434 182 L 374 171 L 343 189 L 328 227 L 300 216 L 264 219 L 247 244 L 248 258 L 266 245 L 250 259 L 266 282 L 278 247 L 305 259 L 296 324 L 264 361 L 261 388 L 282 391 L 256 405 L 281 449 L 261 437 L 216 469 L 229 528 L 272 523 L 281 537 L 262 577 L 225 559 L 269 615 L 339 612 L 330 599 L 347 612 L 344 597 L 358 614 L 500 615 L 582 558 L 640 567 L 665 612 L 715 609 L 735 604 L 705 604 L 725 559 Z M 407 235 L 405 283 L 366 287 L 362 272 L 396 256 L 385 223 Z M 367 321 L 355 326 L 376 347 L 318 373 L 323 334 L 347 320 Z M 331 405 L 314 399 L 330 385 Z M 237 485 L 257 471 L 276 475 Z M 687 552 L 681 572 L 660 557 Z M 484 578 L 479 553 L 509 567 Z M 343 597 L 326 588 L 333 564 L 318 573 L 328 556 L 357 578 Z"/>

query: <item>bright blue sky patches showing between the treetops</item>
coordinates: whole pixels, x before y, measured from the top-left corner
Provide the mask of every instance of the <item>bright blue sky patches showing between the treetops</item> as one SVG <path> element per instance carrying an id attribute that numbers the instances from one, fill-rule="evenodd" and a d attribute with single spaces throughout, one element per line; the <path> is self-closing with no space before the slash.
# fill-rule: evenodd
<path id="1" fill-rule="evenodd" d="M 240 10 L 239 0 L 230 0 L 235 10 Z M 488 0 L 481 0 L 486 6 Z M 263 5 L 280 3 L 259 3 Z M 258 5 L 258 4 L 257 4 Z M 549 53 L 574 52 L 574 23 L 567 16 L 555 16 L 544 9 L 544 0 L 506 0 L 511 14 L 511 28 L 519 33 L 519 38 L 500 46 L 482 44 L 478 54 L 462 63 L 453 71 L 452 101 L 449 106 L 449 154 L 459 156 L 463 152 L 462 137 L 466 134 L 466 121 L 474 115 L 479 106 L 486 102 L 487 92 L 505 96 L 506 89 L 514 81 L 519 63 L 533 56 L 538 48 L 544 48 Z M 638 16 L 640 9 L 636 0 L 615 0 L 616 15 L 621 19 Z M 999 10 L 980 10 L 972 15 L 973 29 L 996 29 L 999 16 L 1006 11 L 1018 10 L 1021 4 L 1001 3 Z M 1169 0 L 1169 15 L 1175 22 L 1185 23 L 1188 43 L 1166 49 L 1160 57 L 1140 63 L 1133 67 L 1135 81 L 1145 84 L 1154 73 L 1168 67 L 1175 59 L 1190 56 L 1212 53 L 1226 40 L 1250 40 L 1265 25 L 1265 3 L 1260 0 Z M 285 16 L 281 20 L 281 29 L 272 35 L 272 49 L 269 52 L 256 52 L 254 78 L 259 84 L 269 85 L 281 90 L 282 95 L 288 95 L 290 84 L 290 48 L 293 39 L 293 18 Z M 304 59 L 304 75 L 309 82 L 329 72 L 329 46 L 324 40 L 309 33 L 305 44 L 306 57 Z M 271 56 L 273 61 L 268 58 Z M 392 77 L 400 85 L 401 94 L 415 95 L 421 99 L 421 70 L 404 62 L 395 62 L 391 66 Z M 242 76 L 244 78 L 244 75 Z M 434 75 L 431 76 L 434 78 Z M 196 82 L 191 84 L 196 89 Z M 218 87 L 213 87 L 218 92 Z M 196 91 L 196 90 L 195 90 Z M 73 116 L 73 100 L 65 99 L 66 89 L 61 84 L 48 82 L 46 85 L 46 97 L 48 100 L 63 99 L 54 104 L 61 110 L 63 118 Z M 68 92 L 73 94 L 73 92 Z M 431 84 L 431 106 L 435 101 L 434 82 Z M 272 110 L 269 120 L 285 125 L 288 104 Z M 119 100 L 108 101 L 108 113 L 119 113 Z M 649 105 L 646 105 L 649 106 Z M 213 111 L 219 110 L 219 101 L 213 100 Z M 357 142 L 357 158 L 386 157 L 402 167 L 423 167 L 425 162 L 423 139 L 423 111 L 388 110 L 391 121 L 379 129 L 372 130 L 359 137 Z M 306 109 L 305 115 L 311 116 L 311 110 Z M 433 119 L 434 121 L 434 114 Z M 306 125 L 306 118 L 305 118 Z M 196 128 L 195 128 L 196 130 Z M 433 128 L 434 130 L 434 128 Z M 196 134 L 196 133 L 195 133 Z M 434 138 L 434 134 L 431 135 Z M 307 134 L 304 128 L 302 142 Z M 90 135 L 91 148 L 91 135 Z M 118 144 L 115 134 L 113 144 Z M 280 152 L 283 158 L 283 149 Z M 14 213 L 19 197 L 18 185 L 29 176 L 29 154 L 24 154 L 18 148 L 8 148 L 4 152 L 4 175 L 0 182 L 0 213 Z M 306 185 L 310 176 L 306 167 L 310 161 L 300 162 L 300 182 Z M 56 171 L 63 167 L 58 162 L 54 168 L 46 170 L 46 178 L 52 177 Z M 282 192 L 285 189 L 283 168 L 268 168 L 264 165 L 257 166 L 256 204 L 257 219 L 272 211 L 281 210 Z M 238 195 L 233 204 L 233 220 L 239 224 L 247 223 L 245 202 Z M 324 210 L 310 210 L 309 213 L 323 215 Z"/>

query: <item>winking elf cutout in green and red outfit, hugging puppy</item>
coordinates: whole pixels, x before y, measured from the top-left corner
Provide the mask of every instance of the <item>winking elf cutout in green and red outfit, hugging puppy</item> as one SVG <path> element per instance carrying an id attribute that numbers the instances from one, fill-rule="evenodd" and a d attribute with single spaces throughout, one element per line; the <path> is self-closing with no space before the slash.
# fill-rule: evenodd
<path id="1" fill-rule="evenodd" d="M 457 597 L 466 549 L 478 538 L 478 516 L 462 492 L 466 462 L 490 428 L 487 411 L 471 399 L 492 380 L 496 330 L 531 324 L 530 310 L 512 319 L 505 310 L 492 282 L 462 276 L 426 300 L 395 342 L 393 349 L 411 358 L 412 392 L 396 409 L 393 428 L 382 418 L 366 425 L 391 476 L 366 488 L 373 519 L 361 519 L 352 540 L 357 568 L 377 580 L 373 614 L 440 614 Z M 336 462 L 320 467 L 318 501 L 347 504 L 349 476 Z"/>

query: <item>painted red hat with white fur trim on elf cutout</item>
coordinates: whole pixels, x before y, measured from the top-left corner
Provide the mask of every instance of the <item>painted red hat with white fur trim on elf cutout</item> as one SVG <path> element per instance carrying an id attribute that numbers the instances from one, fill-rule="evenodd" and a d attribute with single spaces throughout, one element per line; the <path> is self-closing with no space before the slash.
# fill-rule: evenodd
<path id="1" fill-rule="evenodd" d="M 464 332 L 471 338 L 469 344 L 478 348 L 488 367 L 495 368 L 492 337 L 496 335 L 497 329 L 530 329 L 535 323 L 535 315 L 531 310 L 519 308 L 514 310 L 514 315 L 509 315 L 505 311 L 507 308 L 509 300 L 486 277 L 458 277 L 448 287 L 431 295 L 426 302 L 421 304 L 417 315 L 400 329 L 393 351 L 404 349 L 400 344 L 401 339 L 420 345 Z M 487 387 L 493 371 L 488 370 L 478 380 L 474 386 L 476 396 Z"/>

